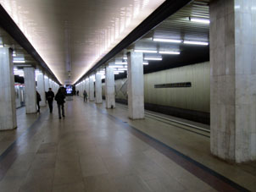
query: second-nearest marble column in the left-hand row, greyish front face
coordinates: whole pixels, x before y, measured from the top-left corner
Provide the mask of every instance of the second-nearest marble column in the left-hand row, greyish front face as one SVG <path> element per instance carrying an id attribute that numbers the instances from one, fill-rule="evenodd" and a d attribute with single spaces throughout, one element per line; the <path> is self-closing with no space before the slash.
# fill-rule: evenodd
<path id="1" fill-rule="evenodd" d="M 24 68 L 25 112 L 36 112 L 36 78 L 33 67 Z"/>

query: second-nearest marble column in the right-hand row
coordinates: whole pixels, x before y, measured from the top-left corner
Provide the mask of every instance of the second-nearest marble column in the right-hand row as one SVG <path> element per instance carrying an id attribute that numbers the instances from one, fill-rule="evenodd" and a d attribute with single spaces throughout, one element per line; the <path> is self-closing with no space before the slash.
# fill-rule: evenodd
<path id="1" fill-rule="evenodd" d="M 143 53 L 128 54 L 128 112 L 129 118 L 144 118 Z"/>

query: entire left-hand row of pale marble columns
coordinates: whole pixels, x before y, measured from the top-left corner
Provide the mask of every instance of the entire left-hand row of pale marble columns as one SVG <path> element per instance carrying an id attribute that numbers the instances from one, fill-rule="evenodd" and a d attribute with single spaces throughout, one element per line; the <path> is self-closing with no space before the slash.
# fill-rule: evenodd
<path id="1" fill-rule="evenodd" d="M 58 84 L 45 74 L 36 73 L 35 68 L 24 68 L 25 112 L 35 113 L 36 110 L 36 80 L 37 91 L 41 95 L 41 106 L 46 105 L 46 91 L 51 87 L 56 93 Z M 14 64 L 12 51 L 7 47 L 0 48 L 0 130 L 17 128 Z"/>

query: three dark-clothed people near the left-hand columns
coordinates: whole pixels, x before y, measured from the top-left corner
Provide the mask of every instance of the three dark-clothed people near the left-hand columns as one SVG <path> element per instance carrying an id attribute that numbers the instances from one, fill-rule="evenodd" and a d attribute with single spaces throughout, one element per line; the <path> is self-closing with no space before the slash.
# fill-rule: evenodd
<path id="1" fill-rule="evenodd" d="M 64 114 L 64 99 L 65 99 L 65 88 L 60 87 L 58 89 L 58 92 L 56 96 L 54 96 L 54 93 L 52 91 L 52 88 L 49 88 L 49 91 L 46 92 L 46 99 L 47 103 L 50 109 L 50 113 L 53 113 L 53 99 L 57 101 L 58 105 L 58 118 L 65 117 Z M 36 103 L 37 103 L 37 112 L 40 112 L 40 101 L 42 101 L 40 94 L 36 91 Z"/>

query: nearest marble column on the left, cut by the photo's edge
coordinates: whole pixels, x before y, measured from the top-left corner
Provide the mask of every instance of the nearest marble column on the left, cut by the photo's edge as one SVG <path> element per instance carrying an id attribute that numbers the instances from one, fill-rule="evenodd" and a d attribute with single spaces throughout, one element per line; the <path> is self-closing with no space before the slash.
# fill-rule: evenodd
<path id="1" fill-rule="evenodd" d="M 0 48 L 0 130 L 17 128 L 12 51 Z"/>

